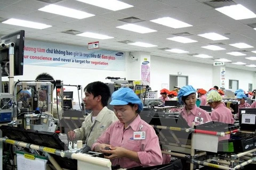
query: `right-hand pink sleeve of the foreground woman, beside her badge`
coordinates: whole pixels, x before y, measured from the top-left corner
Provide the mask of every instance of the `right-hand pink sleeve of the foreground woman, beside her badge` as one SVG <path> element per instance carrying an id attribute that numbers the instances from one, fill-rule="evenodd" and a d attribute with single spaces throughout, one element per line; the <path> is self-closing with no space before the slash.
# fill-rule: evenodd
<path id="1" fill-rule="evenodd" d="M 141 143 L 143 151 L 139 151 L 138 157 L 142 166 L 161 165 L 163 162 L 158 137 L 153 128 L 146 131 L 146 140 Z"/>

